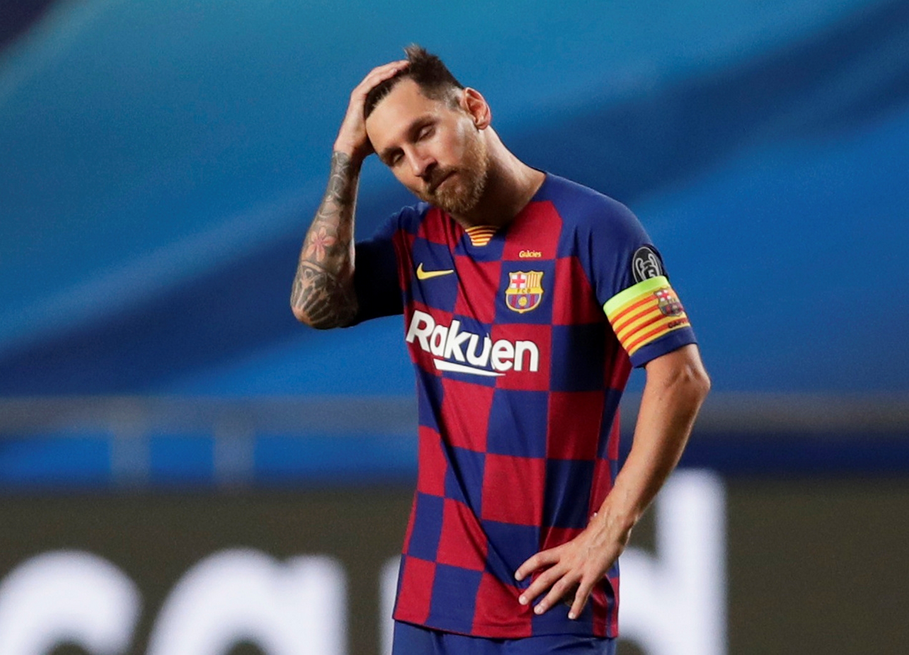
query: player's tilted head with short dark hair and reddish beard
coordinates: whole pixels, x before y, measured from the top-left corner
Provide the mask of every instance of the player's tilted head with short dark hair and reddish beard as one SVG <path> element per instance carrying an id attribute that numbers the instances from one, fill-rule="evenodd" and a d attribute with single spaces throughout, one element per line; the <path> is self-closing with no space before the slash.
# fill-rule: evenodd
<path id="1" fill-rule="evenodd" d="M 366 95 L 366 134 L 379 158 L 420 199 L 449 213 L 470 212 L 489 171 L 482 131 L 489 106 L 423 48 L 409 65 Z"/>

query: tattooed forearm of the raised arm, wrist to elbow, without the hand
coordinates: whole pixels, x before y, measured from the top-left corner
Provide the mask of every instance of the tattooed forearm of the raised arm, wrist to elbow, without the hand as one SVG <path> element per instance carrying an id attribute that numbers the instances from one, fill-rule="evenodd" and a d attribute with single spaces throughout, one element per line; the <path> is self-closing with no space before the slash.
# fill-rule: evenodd
<path id="1" fill-rule="evenodd" d="M 340 327 L 356 314 L 354 210 L 359 166 L 350 155 L 332 155 L 328 187 L 306 233 L 290 303 L 304 323 Z"/>

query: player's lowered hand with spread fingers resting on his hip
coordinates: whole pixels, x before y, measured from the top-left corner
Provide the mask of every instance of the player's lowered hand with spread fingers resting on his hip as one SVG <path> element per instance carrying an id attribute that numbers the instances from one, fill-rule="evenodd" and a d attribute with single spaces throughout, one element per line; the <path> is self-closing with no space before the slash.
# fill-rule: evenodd
<path id="1" fill-rule="evenodd" d="M 518 599 L 521 604 L 532 603 L 549 590 L 534 612 L 542 614 L 561 600 L 566 603 L 571 600 L 568 618 L 574 620 L 581 616 L 594 586 L 603 580 L 631 535 L 630 527 L 618 528 L 609 523 L 605 517 L 598 519 L 594 514 L 590 524 L 573 540 L 540 551 L 525 561 L 514 573 L 515 580 L 522 581 L 534 571 L 542 572 L 521 594 Z M 574 599 L 570 598 L 572 592 Z"/>

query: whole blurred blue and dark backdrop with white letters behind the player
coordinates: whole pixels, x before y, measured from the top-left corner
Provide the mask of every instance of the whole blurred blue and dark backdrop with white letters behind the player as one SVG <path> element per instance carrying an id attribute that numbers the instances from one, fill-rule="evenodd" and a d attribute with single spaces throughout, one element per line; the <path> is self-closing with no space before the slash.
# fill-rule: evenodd
<path id="1" fill-rule="evenodd" d="M 701 339 L 620 653 L 905 652 L 909 2 L 6 0 L 0 655 L 387 651 L 402 326 L 287 298 L 349 91 L 411 42 L 632 207 Z M 358 234 L 410 202 L 370 162 Z"/>

